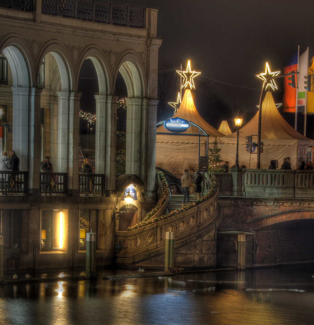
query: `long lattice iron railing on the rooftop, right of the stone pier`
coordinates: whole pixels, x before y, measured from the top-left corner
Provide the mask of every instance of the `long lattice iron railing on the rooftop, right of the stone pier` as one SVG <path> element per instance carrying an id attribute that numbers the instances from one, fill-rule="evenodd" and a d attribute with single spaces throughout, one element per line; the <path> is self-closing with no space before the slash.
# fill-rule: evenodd
<path id="1" fill-rule="evenodd" d="M 100 0 L 42 0 L 44 14 L 137 28 L 145 28 L 145 10 Z"/>

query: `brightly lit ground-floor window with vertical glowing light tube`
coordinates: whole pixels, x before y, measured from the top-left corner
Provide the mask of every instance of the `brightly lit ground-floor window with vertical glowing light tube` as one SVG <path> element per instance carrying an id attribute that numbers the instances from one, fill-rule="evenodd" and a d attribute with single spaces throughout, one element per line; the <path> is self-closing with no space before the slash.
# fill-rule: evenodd
<path id="1" fill-rule="evenodd" d="M 61 250 L 64 244 L 64 216 L 62 210 L 41 211 L 41 249 Z"/>

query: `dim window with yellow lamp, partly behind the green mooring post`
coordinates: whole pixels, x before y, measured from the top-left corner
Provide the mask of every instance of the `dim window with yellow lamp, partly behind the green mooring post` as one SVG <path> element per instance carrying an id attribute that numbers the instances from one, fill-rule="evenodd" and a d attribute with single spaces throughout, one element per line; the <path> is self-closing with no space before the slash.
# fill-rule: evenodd
<path id="1" fill-rule="evenodd" d="M 80 227 L 79 227 L 79 236 L 80 236 L 80 247 L 79 249 L 86 249 L 86 233 L 94 232 L 96 233 L 97 243 L 96 248 L 98 247 L 98 210 L 80 210 Z"/>

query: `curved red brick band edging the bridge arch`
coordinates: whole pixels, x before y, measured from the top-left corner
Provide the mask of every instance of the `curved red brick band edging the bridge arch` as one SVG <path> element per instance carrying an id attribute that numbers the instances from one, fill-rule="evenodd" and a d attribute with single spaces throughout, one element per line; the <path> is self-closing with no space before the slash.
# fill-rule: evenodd
<path id="1" fill-rule="evenodd" d="M 272 226 L 285 221 L 314 219 L 314 209 L 295 209 L 290 211 L 281 211 L 276 214 L 269 214 L 251 221 L 252 230 L 260 230 L 262 228 Z"/>

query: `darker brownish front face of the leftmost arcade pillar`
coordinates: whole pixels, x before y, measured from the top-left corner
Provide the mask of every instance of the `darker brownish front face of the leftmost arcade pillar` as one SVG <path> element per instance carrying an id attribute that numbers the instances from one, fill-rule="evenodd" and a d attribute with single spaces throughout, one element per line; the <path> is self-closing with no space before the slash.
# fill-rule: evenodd
<path id="1" fill-rule="evenodd" d="M 40 94 L 42 88 L 29 88 L 28 114 L 28 188 L 30 193 L 39 191 L 40 172 Z"/>

